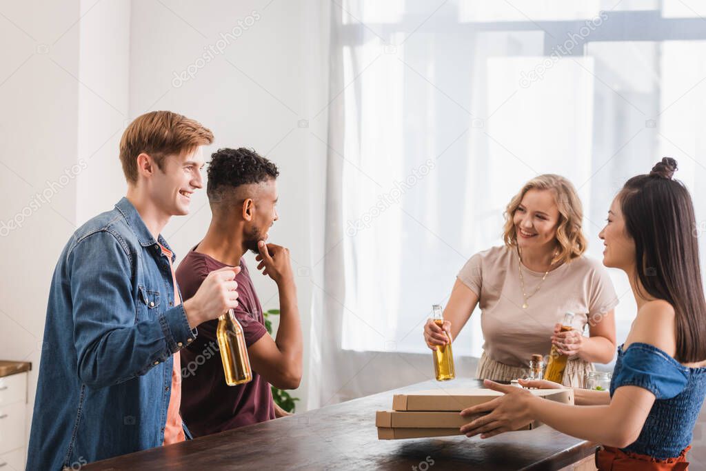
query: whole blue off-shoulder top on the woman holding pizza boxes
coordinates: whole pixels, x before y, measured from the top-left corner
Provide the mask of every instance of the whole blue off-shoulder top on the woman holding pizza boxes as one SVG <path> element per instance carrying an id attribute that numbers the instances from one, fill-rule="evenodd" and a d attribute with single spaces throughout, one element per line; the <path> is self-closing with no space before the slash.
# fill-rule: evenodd
<path id="1" fill-rule="evenodd" d="M 706 396 L 706 367 L 688 368 L 659 348 L 635 342 L 623 351 L 611 379 L 611 398 L 621 386 L 639 386 L 657 400 L 638 439 L 623 451 L 664 460 L 676 458 L 689 446 Z"/>

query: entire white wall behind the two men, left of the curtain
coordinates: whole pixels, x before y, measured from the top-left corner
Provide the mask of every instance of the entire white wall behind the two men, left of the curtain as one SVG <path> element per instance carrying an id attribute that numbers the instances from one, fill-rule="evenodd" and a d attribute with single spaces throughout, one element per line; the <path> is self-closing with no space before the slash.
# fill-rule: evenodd
<path id="1" fill-rule="evenodd" d="M 125 126 L 139 114 L 171 109 L 198 119 L 219 147 L 255 148 L 280 167 L 280 220 L 272 242 L 288 246 L 297 273 L 305 342 L 304 379 L 292 395 L 306 410 L 311 267 L 323 256 L 321 225 L 328 102 L 328 7 L 322 0 L 73 1 L 2 8 L 0 102 L 0 221 L 8 224 L 54 185 L 51 201 L 0 222 L 0 358 L 32 362 L 34 403 L 47 297 L 56 260 L 78 225 L 112 208 L 125 193 L 118 159 Z M 255 18 L 254 22 L 247 17 Z M 246 29 L 213 61 L 181 84 L 186 70 L 220 33 Z M 222 45 L 222 44 L 221 44 Z M 229 64 L 226 59 L 232 62 Z M 175 86 L 180 85 L 180 86 Z M 10 110 L 10 112 L 8 112 Z M 301 120 L 309 120 L 304 123 Z M 309 126 L 309 127 L 302 127 Z M 72 165 L 77 165 L 73 167 Z M 66 173 L 68 172 L 68 173 Z M 308 189 L 313 188 L 314 191 Z M 191 215 L 175 217 L 164 236 L 181 258 L 210 220 L 205 191 Z M 316 235 L 312 235 L 316 234 Z M 250 258 L 252 260 L 252 258 Z M 251 264 L 252 266 L 252 264 Z M 253 270 L 264 309 L 277 307 L 273 282 Z M 31 417 L 28 419 L 28 431 Z"/>

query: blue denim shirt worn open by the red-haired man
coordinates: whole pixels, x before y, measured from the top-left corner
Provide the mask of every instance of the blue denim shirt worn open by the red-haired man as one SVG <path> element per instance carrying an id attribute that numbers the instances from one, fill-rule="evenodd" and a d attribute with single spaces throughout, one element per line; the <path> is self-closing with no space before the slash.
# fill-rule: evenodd
<path id="1" fill-rule="evenodd" d="M 172 355 L 196 338 L 174 306 L 167 256 L 135 207 L 81 226 L 47 305 L 28 470 L 60 470 L 161 446 Z"/>

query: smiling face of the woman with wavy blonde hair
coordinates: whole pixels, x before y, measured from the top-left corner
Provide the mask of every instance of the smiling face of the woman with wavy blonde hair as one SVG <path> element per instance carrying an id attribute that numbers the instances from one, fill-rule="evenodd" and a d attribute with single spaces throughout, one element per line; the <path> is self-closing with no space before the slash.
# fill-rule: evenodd
<path id="1" fill-rule="evenodd" d="M 554 246 L 559 217 L 559 208 L 551 191 L 528 190 L 513 214 L 520 250 Z"/>

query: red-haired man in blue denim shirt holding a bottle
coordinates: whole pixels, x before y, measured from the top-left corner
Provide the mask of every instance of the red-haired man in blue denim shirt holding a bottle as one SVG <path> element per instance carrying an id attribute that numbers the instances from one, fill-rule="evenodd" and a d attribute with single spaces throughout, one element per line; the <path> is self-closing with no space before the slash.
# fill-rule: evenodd
<path id="1" fill-rule="evenodd" d="M 74 232 L 54 270 L 28 470 L 60 470 L 184 440 L 179 350 L 237 306 L 239 268 L 181 304 L 160 232 L 189 213 L 213 134 L 172 112 L 133 121 L 120 143 L 128 192 Z M 175 355 L 176 353 L 176 355 Z"/>

